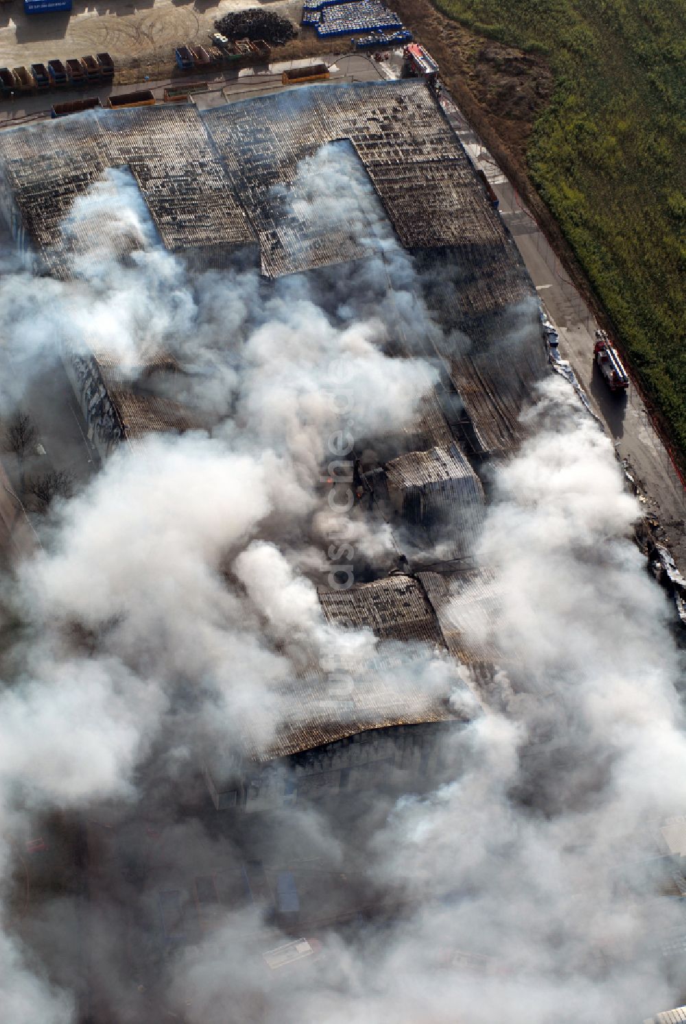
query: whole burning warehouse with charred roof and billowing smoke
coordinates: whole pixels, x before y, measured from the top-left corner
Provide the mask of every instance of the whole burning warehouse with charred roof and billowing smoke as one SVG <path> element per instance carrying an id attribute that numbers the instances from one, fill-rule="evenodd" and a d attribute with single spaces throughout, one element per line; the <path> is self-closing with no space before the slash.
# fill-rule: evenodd
<path id="1" fill-rule="evenodd" d="M 676 1005 L 665 609 L 426 84 L 5 131 L 0 204 L 97 464 L 5 587 L 7 1019 Z"/>

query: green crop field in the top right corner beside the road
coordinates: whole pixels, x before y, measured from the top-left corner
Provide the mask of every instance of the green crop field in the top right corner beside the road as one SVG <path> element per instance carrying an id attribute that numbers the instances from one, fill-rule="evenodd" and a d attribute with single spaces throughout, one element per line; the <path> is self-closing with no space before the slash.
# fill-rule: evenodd
<path id="1" fill-rule="evenodd" d="M 434 0 L 547 55 L 533 182 L 686 460 L 685 0 Z"/>

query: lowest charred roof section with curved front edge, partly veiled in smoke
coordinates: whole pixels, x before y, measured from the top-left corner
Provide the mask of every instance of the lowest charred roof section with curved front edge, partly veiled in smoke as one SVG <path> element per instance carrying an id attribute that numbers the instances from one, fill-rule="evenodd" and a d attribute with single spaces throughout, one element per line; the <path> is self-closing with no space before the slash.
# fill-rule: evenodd
<path id="1" fill-rule="evenodd" d="M 375 653 L 340 671 L 313 666 L 282 693 L 292 717 L 268 742 L 246 736 L 246 771 L 213 752 L 205 778 L 217 810 L 249 810 L 294 803 L 314 793 L 366 788 L 399 773 L 403 787 L 421 783 L 436 768 L 441 729 L 469 720 L 483 694 L 462 680 L 450 697 L 421 685 L 416 669 L 427 655 L 448 658 L 452 650 L 422 583 L 396 573 L 345 591 L 320 590 L 326 620 L 373 633 Z M 456 645 L 453 645 L 456 650 Z M 456 697 L 456 699 L 455 699 Z"/>

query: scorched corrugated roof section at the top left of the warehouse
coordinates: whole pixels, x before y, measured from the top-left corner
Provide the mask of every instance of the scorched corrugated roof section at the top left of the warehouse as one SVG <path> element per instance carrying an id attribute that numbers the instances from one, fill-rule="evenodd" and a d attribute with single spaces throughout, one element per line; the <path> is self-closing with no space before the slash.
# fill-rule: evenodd
<path id="1" fill-rule="evenodd" d="M 85 222 L 85 237 L 77 224 L 68 240 L 63 225 L 75 200 L 107 169 L 121 166 L 129 168 L 170 252 L 198 254 L 213 265 L 254 243 L 195 108 L 89 111 L 0 138 L 0 188 L 10 226 L 19 241 L 26 232 L 46 271 L 68 276 L 74 255 L 97 241 L 95 218 Z"/>

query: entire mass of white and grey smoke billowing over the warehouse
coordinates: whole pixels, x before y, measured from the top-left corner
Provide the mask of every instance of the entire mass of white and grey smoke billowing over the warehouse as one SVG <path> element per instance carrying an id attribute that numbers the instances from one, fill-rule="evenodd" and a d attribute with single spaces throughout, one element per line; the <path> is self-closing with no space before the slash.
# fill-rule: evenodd
<path id="1" fill-rule="evenodd" d="M 472 631 L 497 641 L 506 711 L 470 697 L 427 793 L 214 812 L 200 750 L 269 744 L 313 664 L 354 662 L 364 684 L 378 642 L 327 624 L 316 595 L 341 528 L 323 467 L 331 437 L 397 450 L 438 381 L 441 332 L 362 185 L 355 216 L 327 206 L 324 221 L 350 221 L 368 257 L 266 285 L 190 274 L 117 173 L 74 210 L 106 211 L 112 240 L 94 232 L 74 281 L 4 257 L 2 414 L 83 339 L 132 377 L 173 353 L 173 396 L 210 429 L 120 446 L 3 580 L 0 1019 L 638 1024 L 676 1005 L 684 962 L 663 947 L 683 912 L 654 836 L 683 808 L 681 667 L 611 444 L 559 380 L 489 470 L 478 559 L 499 613 Z M 320 173 L 345 167 L 305 168 L 298 203 L 317 207 Z M 399 339 L 414 354 L 395 357 Z M 347 510 L 345 540 L 366 572 L 397 564 L 382 519 Z M 413 645 L 406 672 L 469 697 L 434 651 Z M 255 856 L 310 864 L 322 903 L 351 907 L 317 931 L 316 958 L 270 974 L 261 952 L 287 938 L 230 904 L 165 945 L 159 891 Z"/>

